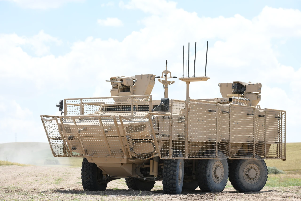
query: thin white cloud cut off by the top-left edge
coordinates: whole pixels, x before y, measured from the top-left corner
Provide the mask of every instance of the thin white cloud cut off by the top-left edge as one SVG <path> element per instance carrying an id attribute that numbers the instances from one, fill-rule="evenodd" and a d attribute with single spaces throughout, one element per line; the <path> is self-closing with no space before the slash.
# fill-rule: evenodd
<path id="1" fill-rule="evenodd" d="M 59 8 L 62 5 L 69 2 L 84 2 L 85 0 L 0 0 L 0 1 L 15 2 L 17 3 L 17 5 L 23 8 L 48 9 L 48 8 Z"/>

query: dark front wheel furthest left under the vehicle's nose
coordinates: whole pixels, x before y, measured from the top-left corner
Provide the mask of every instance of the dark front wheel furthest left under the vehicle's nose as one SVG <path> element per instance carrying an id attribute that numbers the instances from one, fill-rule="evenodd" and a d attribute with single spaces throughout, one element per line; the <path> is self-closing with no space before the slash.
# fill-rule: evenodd
<path id="1" fill-rule="evenodd" d="M 89 163 L 86 158 L 82 161 L 82 187 L 84 190 L 106 190 L 107 183 L 101 182 L 102 170 L 95 163 Z"/>

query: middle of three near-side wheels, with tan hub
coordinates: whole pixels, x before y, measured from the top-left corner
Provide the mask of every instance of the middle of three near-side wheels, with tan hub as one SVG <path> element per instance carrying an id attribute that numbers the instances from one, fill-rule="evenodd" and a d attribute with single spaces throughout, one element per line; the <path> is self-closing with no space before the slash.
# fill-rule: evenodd
<path id="1" fill-rule="evenodd" d="M 200 189 L 205 192 L 221 192 L 226 187 L 228 172 L 227 159 L 199 160 L 197 179 Z"/>

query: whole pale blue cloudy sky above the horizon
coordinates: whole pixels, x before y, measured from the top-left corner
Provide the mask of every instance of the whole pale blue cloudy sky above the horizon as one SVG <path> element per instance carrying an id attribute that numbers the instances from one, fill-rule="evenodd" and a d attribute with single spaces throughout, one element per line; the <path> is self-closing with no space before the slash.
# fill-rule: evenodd
<path id="1" fill-rule="evenodd" d="M 218 83 L 262 83 L 261 108 L 287 111 L 287 142 L 301 142 L 300 1 L 0 0 L 0 143 L 47 142 L 40 115 L 64 98 L 110 96 L 112 76 L 185 75 L 191 98 L 221 97 Z M 164 97 L 154 86 L 153 99 Z M 184 82 L 169 86 L 185 99 Z"/>

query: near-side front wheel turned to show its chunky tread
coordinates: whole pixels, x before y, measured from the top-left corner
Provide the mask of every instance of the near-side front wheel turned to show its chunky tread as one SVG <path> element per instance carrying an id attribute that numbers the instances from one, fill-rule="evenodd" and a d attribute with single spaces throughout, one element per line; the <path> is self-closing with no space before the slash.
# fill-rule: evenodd
<path id="1" fill-rule="evenodd" d="M 182 155 L 182 153 L 180 153 Z M 181 156 L 179 156 L 181 157 Z M 184 160 L 168 159 L 163 165 L 163 193 L 181 194 L 184 179 Z"/>

